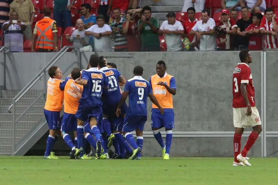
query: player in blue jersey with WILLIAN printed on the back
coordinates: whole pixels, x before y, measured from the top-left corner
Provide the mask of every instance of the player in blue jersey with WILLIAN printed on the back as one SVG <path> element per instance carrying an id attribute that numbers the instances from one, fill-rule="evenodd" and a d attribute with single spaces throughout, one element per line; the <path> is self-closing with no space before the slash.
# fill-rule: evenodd
<path id="1" fill-rule="evenodd" d="M 119 142 L 121 146 L 124 147 L 126 150 L 126 154 L 124 158 L 129 158 L 132 155 L 132 150 L 128 146 L 128 143 L 124 140 L 123 136 L 121 135 L 120 131 L 122 128 L 122 120 L 120 118 L 114 118 L 116 114 L 116 108 L 119 104 L 120 98 L 122 97 L 119 83 L 125 84 L 126 80 L 121 73 L 115 68 L 107 68 L 105 66 L 104 61 L 99 64 L 99 70 L 105 73 L 105 76 L 108 78 L 109 88 L 103 90 L 103 127 L 104 130 L 107 132 L 109 137 L 108 147 L 112 145 L 112 138 L 116 137 L 116 141 Z M 124 104 L 121 106 L 121 114 L 125 115 L 127 112 L 127 105 Z M 109 118 L 109 119 L 108 119 Z M 122 117 L 123 118 L 123 117 Z M 112 126 L 112 133 L 111 133 L 111 123 L 110 121 L 113 120 Z M 105 128 L 107 127 L 107 128 Z M 110 131 L 110 133 L 108 133 Z M 116 154 L 119 154 L 119 149 L 115 148 Z"/>

